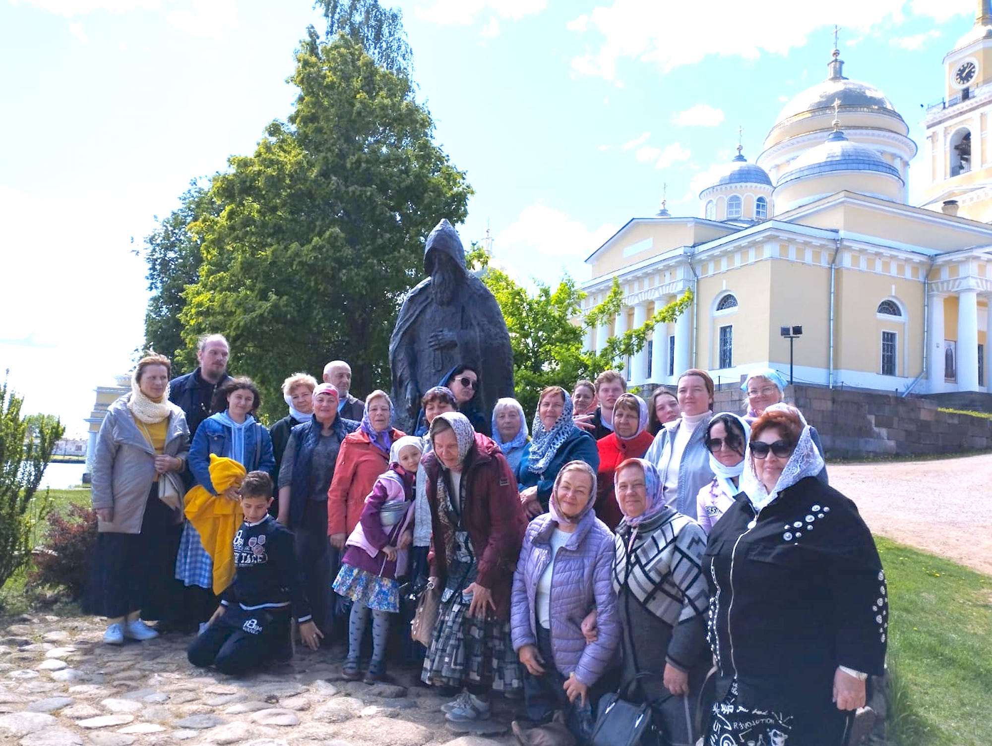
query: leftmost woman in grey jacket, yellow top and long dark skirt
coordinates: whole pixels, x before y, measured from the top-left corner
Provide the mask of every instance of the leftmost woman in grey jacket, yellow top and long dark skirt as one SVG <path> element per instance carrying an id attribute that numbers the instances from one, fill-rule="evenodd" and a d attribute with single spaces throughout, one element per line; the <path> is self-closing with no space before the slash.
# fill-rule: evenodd
<path id="1" fill-rule="evenodd" d="M 110 405 L 96 439 L 92 504 L 99 537 L 83 606 L 107 617 L 103 642 L 111 645 L 157 637 L 142 619 L 167 619 L 177 610 L 173 569 L 183 495 L 163 490 L 160 498 L 159 480 L 184 468 L 189 431 L 183 410 L 169 401 L 171 367 L 163 355 L 142 358 L 131 393 Z"/>

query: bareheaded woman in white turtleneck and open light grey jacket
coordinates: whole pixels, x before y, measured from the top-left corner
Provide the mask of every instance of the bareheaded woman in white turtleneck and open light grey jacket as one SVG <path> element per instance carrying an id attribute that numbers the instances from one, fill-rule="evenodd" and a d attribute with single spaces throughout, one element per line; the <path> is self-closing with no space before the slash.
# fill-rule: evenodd
<path id="1" fill-rule="evenodd" d="M 713 416 L 713 392 L 713 379 L 705 371 L 690 368 L 682 373 L 678 391 L 682 417 L 662 428 L 644 456 L 658 468 L 665 504 L 693 520 L 695 497 L 713 478 L 704 427 Z"/>

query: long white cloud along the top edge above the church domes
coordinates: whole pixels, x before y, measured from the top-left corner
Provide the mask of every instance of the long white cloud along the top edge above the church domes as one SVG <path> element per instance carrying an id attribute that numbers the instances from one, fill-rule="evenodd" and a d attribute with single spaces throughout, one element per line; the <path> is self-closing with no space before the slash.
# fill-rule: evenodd
<path id="1" fill-rule="evenodd" d="M 596 51 L 572 60 L 577 72 L 607 80 L 624 59 L 651 62 L 663 72 L 699 62 L 709 55 L 755 60 L 762 54 L 785 55 L 803 47 L 810 36 L 822 40 L 824 57 L 832 43 L 833 24 L 847 38 L 905 20 L 906 0 L 837 0 L 829 18 L 819 3 L 793 3 L 788 13 L 740 13 L 737 4 L 661 3 L 658 0 L 612 0 L 598 6 L 588 20 L 570 25 L 576 33 L 598 35 Z M 913 0 L 914 17 L 934 20 L 973 11 L 967 0 Z M 691 30 L 689 33 L 687 30 Z M 843 32 L 842 32 L 843 33 Z M 841 37 L 843 44 L 844 37 Z M 591 40 L 590 40 L 591 41 Z"/>

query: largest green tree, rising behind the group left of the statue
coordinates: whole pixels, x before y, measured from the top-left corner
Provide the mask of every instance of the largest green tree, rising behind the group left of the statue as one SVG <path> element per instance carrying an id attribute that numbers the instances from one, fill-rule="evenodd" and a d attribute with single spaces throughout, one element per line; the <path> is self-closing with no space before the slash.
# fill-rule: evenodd
<path id="1" fill-rule="evenodd" d="M 441 217 L 464 220 L 471 193 L 410 78 L 360 41 L 310 29 L 290 80 L 289 120 L 229 159 L 189 226 L 202 263 L 180 312 L 187 350 L 199 333 L 227 336 L 231 370 L 256 380 L 269 417 L 283 412 L 286 375 L 336 357 L 358 391 L 389 379 L 389 335 L 424 237 Z"/>

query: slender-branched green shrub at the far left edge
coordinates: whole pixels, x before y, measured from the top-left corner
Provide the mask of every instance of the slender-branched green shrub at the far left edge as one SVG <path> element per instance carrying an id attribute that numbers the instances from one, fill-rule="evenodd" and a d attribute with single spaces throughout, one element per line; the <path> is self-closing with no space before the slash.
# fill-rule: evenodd
<path id="1" fill-rule="evenodd" d="M 21 417 L 24 400 L 0 387 L 0 585 L 31 558 L 36 523 L 51 506 L 38 485 L 64 428 L 51 415 Z"/>

